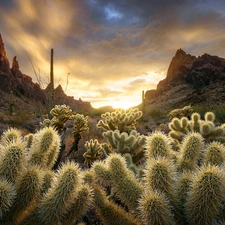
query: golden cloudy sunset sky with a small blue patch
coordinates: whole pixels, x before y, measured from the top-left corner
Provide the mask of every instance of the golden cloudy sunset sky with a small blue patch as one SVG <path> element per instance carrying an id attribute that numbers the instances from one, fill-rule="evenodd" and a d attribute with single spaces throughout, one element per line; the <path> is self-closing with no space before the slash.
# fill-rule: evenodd
<path id="1" fill-rule="evenodd" d="M 128 108 L 166 77 L 177 49 L 225 58 L 224 0 L 0 0 L 7 58 L 42 88 Z"/>

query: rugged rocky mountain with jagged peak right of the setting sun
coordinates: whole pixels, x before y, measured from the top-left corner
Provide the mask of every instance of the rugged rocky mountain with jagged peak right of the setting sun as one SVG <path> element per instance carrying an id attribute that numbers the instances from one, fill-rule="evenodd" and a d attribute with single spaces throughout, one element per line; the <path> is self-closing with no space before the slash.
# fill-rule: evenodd
<path id="1" fill-rule="evenodd" d="M 145 102 L 148 109 L 165 110 L 224 105 L 225 59 L 209 54 L 196 57 L 177 50 L 166 78 L 156 89 L 145 92 Z"/>

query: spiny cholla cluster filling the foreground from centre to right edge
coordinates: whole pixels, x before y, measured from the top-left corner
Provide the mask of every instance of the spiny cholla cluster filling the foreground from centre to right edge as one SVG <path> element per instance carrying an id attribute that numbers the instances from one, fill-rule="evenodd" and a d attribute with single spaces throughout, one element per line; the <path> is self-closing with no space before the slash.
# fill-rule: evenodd
<path id="1" fill-rule="evenodd" d="M 206 162 L 210 146 L 214 147 L 213 143 L 205 145 L 200 133 L 191 132 L 175 152 L 169 138 L 156 132 L 147 138 L 142 176 L 135 176 L 139 166 L 130 167 L 129 154 L 112 153 L 103 162 L 95 162 L 90 184 L 94 190 L 97 184 L 107 187 L 106 194 L 98 186 L 94 197 L 101 220 L 114 224 L 114 220 L 118 222 L 115 214 L 126 208 L 130 218 L 139 215 L 140 224 L 220 224 L 224 220 L 224 159 L 220 157 L 220 168 Z M 215 145 L 220 156 L 222 147 Z M 127 212 L 123 212 L 124 224 Z"/>

